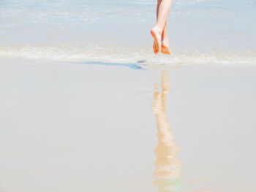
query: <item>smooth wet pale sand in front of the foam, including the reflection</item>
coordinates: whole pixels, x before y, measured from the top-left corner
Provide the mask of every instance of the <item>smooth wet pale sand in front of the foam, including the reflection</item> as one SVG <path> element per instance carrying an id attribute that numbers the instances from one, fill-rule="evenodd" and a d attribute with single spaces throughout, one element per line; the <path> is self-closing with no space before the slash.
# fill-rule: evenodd
<path id="1" fill-rule="evenodd" d="M 2 59 L 0 191 L 256 191 L 255 73 Z"/>

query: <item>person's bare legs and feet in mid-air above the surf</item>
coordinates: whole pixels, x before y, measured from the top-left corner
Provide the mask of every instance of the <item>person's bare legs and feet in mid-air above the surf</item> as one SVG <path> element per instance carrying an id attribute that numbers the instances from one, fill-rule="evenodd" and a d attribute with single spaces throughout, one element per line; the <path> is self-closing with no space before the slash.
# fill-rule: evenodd
<path id="1" fill-rule="evenodd" d="M 166 20 L 167 16 L 170 13 L 170 7 L 173 3 L 173 0 L 158 0 L 157 1 L 157 25 L 151 29 L 151 35 L 154 39 L 154 53 L 159 53 L 159 47 L 161 40 L 164 42 L 164 45 L 167 44 L 167 27 Z M 167 46 L 164 46 L 168 48 Z M 170 53 L 169 53 L 170 54 Z"/>

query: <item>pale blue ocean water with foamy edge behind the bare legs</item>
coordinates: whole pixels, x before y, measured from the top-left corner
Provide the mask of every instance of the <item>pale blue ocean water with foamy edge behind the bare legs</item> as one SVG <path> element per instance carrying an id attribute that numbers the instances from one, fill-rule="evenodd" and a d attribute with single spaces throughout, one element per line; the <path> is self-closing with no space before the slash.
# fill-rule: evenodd
<path id="1" fill-rule="evenodd" d="M 0 1 L 0 58 L 146 64 L 256 64 L 255 0 L 176 0 L 173 55 L 155 56 L 153 0 Z"/>

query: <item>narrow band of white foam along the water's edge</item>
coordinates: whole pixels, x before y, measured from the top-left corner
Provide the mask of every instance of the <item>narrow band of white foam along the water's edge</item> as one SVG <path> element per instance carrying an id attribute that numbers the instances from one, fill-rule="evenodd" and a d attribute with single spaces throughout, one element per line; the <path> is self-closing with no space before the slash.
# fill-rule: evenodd
<path id="1" fill-rule="evenodd" d="M 256 64 L 256 52 L 182 52 L 173 49 L 172 55 L 154 55 L 146 47 L 84 47 L 55 45 L 45 47 L 0 47 L 0 58 L 48 59 L 50 61 L 103 61 L 120 64 L 146 61 L 147 64 Z"/>

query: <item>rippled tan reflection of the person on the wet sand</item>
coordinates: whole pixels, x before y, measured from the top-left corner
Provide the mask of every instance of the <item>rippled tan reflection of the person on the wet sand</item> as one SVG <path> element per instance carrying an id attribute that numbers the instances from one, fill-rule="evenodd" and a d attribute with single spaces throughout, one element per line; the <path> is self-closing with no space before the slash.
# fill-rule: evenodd
<path id="1" fill-rule="evenodd" d="M 168 74 L 162 72 L 162 90 L 154 91 L 153 112 L 157 120 L 158 144 L 155 148 L 156 161 L 154 185 L 159 192 L 181 191 L 181 164 L 177 155 L 179 148 L 174 142 L 173 132 L 167 120 L 167 93 L 169 91 Z"/>

